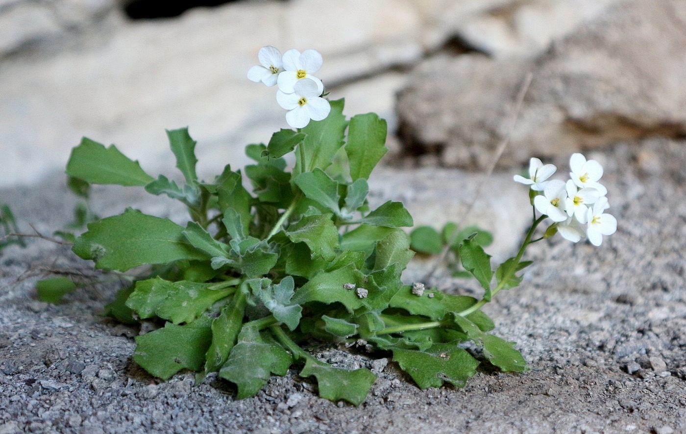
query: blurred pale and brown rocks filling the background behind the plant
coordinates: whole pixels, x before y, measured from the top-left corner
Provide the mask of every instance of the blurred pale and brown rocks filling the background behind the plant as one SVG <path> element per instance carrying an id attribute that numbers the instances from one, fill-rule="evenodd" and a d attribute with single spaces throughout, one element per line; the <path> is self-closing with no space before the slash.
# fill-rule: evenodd
<path id="1" fill-rule="evenodd" d="M 0 0 L 0 185 L 84 135 L 156 175 L 182 126 L 201 173 L 244 164 L 287 126 L 246 78 L 263 45 L 320 51 L 329 98 L 388 119 L 390 163 L 484 168 L 529 72 L 505 165 L 686 133 L 683 0 L 220 2 Z"/>

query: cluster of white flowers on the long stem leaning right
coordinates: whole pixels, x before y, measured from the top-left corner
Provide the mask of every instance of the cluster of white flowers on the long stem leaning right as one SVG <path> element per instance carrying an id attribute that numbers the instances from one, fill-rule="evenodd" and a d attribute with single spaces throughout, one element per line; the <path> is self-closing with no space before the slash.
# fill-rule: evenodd
<path id="1" fill-rule="evenodd" d="M 557 168 L 532 158 L 529 178 L 515 175 L 514 181 L 530 185 L 536 192 L 534 207 L 553 220 L 554 228 L 563 238 L 578 242 L 587 236 L 591 244 L 600 246 L 602 236 L 617 230 L 617 219 L 604 212 L 610 205 L 605 197 L 607 189 L 598 182 L 603 174 L 602 165 L 595 160 L 587 161 L 577 153 L 569 159 L 569 168 L 571 179 L 567 182 L 549 181 Z M 587 225 L 585 230 L 582 225 Z"/>

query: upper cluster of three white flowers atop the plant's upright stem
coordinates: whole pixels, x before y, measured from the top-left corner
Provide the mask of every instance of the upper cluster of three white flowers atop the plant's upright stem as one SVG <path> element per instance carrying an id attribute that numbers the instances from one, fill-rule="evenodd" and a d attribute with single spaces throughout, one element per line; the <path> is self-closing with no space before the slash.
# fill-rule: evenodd
<path id="1" fill-rule="evenodd" d="M 322 55 L 314 49 L 300 53 L 289 49 L 283 57 L 272 45 L 259 50 L 260 65 L 248 71 L 248 79 L 263 82 L 268 87 L 279 85 L 276 102 L 286 109 L 286 122 L 292 128 L 304 128 L 310 119 L 320 121 L 331 111 L 331 105 L 321 98 L 322 80 L 313 76 L 322 67 Z"/>

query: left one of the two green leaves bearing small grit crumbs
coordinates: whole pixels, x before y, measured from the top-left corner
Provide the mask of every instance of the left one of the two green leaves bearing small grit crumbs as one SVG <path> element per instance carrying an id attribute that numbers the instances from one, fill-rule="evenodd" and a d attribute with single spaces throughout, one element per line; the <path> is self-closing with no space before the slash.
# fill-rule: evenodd
<path id="1" fill-rule="evenodd" d="M 362 300 L 357 297 L 354 290 L 343 288 L 343 284 L 355 284 L 364 287 L 364 275 L 355 269 L 354 264 L 349 264 L 331 273 L 320 273 L 312 277 L 309 282 L 296 290 L 293 304 L 304 304 L 308 301 L 321 301 L 322 303 L 342 303 L 349 312 L 362 306 Z"/>

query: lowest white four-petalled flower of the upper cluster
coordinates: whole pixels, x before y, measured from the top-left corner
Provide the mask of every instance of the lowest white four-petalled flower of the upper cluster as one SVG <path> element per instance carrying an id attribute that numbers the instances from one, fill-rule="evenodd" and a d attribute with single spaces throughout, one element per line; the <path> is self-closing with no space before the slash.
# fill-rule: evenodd
<path id="1" fill-rule="evenodd" d="M 285 93 L 279 89 L 276 91 L 276 102 L 286 113 L 286 122 L 292 128 L 304 128 L 309 124 L 309 119 L 320 121 L 325 119 L 331 111 L 331 105 L 324 98 L 320 98 L 316 82 L 313 80 L 298 80 L 292 93 Z"/>

